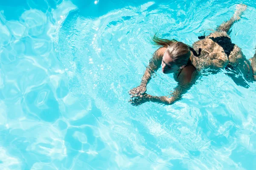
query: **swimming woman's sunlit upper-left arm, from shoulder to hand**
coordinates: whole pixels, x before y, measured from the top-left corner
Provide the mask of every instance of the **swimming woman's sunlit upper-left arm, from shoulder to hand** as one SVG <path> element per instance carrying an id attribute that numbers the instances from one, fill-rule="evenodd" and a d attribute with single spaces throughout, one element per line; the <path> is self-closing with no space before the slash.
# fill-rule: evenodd
<path id="1" fill-rule="evenodd" d="M 151 75 L 161 66 L 161 61 L 163 59 L 163 53 L 165 52 L 165 50 L 165 47 L 161 47 L 154 52 L 153 57 L 150 59 L 149 65 L 147 66 L 146 71 L 142 77 L 140 85 L 136 88 L 131 89 L 129 91 L 130 95 L 139 95 L 146 92 L 146 86 L 151 79 Z"/>

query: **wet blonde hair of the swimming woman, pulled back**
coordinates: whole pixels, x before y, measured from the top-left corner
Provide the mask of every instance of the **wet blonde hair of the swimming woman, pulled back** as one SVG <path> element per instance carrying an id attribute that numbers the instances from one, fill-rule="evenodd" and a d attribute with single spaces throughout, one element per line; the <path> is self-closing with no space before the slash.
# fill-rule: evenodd
<path id="1" fill-rule="evenodd" d="M 166 47 L 167 53 L 172 57 L 175 64 L 180 67 L 182 65 L 189 65 L 190 61 L 190 49 L 189 46 L 183 42 L 172 40 L 166 40 L 158 38 L 156 35 L 152 38 L 154 45 Z"/>

